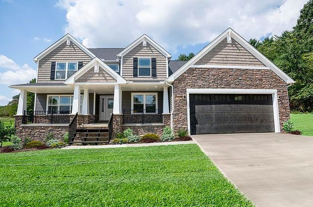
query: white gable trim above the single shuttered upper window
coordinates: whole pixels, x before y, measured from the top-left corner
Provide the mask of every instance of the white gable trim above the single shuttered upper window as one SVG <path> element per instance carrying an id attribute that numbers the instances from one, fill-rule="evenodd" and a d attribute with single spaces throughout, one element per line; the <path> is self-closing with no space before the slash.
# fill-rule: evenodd
<path id="1" fill-rule="evenodd" d="M 162 53 L 165 57 L 170 59 L 172 55 L 168 53 L 165 49 L 163 49 L 160 45 L 158 45 L 155 41 L 148 37 L 148 35 L 143 34 L 137 40 L 133 41 L 130 45 L 128 45 L 125 49 L 123 49 L 120 53 L 117 54 L 118 57 L 122 57 L 123 55 L 127 54 L 129 51 L 134 49 L 135 46 L 140 44 L 142 41 L 149 42 L 153 47 L 155 47 L 160 53 Z"/>

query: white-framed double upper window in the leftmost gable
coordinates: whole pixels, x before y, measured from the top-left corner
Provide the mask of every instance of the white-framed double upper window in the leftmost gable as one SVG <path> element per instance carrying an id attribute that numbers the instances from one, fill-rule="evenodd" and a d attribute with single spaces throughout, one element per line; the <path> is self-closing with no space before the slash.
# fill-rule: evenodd
<path id="1" fill-rule="evenodd" d="M 55 67 L 55 80 L 66 80 L 78 68 L 78 62 L 57 62 Z"/>

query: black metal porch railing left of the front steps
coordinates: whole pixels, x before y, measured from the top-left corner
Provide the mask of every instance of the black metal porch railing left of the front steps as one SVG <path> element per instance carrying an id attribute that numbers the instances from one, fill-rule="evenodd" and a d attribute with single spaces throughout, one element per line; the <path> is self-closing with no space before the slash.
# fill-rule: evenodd
<path id="1" fill-rule="evenodd" d="M 24 111 L 23 124 L 67 124 L 71 111 Z"/>

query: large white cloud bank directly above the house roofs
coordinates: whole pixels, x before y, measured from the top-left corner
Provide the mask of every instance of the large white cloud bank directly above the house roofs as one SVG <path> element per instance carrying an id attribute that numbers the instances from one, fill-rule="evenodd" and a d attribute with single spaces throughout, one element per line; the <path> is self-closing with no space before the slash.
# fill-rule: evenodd
<path id="1" fill-rule="evenodd" d="M 146 33 L 169 52 L 212 41 L 232 27 L 245 39 L 280 35 L 307 0 L 59 0 L 65 32 L 88 47 L 125 47 Z M 81 15 L 84 14 L 84 15 Z"/>

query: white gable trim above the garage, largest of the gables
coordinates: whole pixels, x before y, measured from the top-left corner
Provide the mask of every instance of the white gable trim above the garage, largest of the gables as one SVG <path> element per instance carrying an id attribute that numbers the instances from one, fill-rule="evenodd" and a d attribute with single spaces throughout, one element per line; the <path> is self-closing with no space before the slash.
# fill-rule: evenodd
<path id="1" fill-rule="evenodd" d="M 269 61 L 264 55 L 262 55 L 257 49 L 255 49 L 251 44 L 249 44 L 244 38 L 237 34 L 233 29 L 226 29 L 221 35 L 219 35 L 215 40 L 211 41 L 206 45 L 199 53 L 197 53 L 192 59 L 182 65 L 176 72 L 174 72 L 170 77 L 168 77 L 169 82 L 173 82 L 182 73 L 184 73 L 188 68 L 193 67 L 193 65 L 198 62 L 205 54 L 212 50 L 218 43 L 227 38 L 227 42 L 231 42 L 231 39 L 239 42 L 246 50 L 248 50 L 252 55 L 254 55 L 258 60 L 265 64 L 269 69 L 276 73 L 281 79 L 283 79 L 287 84 L 294 83 L 294 81 L 281 69 L 279 69 L 273 62 Z M 200 66 L 201 65 L 197 65 Z"/>

